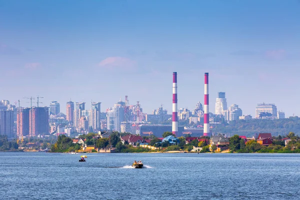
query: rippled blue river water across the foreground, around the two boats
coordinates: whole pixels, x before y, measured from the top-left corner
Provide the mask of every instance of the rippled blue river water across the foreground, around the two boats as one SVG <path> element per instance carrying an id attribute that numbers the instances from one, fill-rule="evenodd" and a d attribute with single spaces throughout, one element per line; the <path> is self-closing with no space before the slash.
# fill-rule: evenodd
<path id="1" fill-rule="evenodd" d="M 0 199 L 300 199 L 300 154 L 80 155 L 0 152 Z"/>

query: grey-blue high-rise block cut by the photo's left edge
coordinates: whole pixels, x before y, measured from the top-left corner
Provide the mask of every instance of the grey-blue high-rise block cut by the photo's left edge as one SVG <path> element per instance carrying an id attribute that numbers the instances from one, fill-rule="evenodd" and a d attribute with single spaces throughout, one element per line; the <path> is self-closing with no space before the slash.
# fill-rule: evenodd
<path id="1" fill-rule="evenodd" d="M 1 134 L 7 135 L 7 138 L 13 138 L 13 111 L 0 110 L 0 131 Z"/>

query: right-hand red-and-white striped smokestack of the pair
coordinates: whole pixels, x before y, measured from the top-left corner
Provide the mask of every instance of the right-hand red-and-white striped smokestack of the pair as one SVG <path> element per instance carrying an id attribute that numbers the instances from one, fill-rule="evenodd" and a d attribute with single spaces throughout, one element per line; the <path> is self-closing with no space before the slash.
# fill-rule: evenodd
<path id="1" fill-rule="evenodd" d="M 204 136 L 209 136 L 209 97 L 208 97 L 208 73 L 204 73 Z"/>

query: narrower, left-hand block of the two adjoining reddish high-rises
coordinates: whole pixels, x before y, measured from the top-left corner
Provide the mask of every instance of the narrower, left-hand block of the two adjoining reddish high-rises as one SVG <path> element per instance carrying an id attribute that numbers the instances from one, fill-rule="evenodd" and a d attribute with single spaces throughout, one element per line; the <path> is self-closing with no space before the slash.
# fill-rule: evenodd
<path id="1" fill-rule="evenodd" d="M 16 135 L 26 136 L 29 134 L 29 108 L 18 107 L 16 114 Z"/>

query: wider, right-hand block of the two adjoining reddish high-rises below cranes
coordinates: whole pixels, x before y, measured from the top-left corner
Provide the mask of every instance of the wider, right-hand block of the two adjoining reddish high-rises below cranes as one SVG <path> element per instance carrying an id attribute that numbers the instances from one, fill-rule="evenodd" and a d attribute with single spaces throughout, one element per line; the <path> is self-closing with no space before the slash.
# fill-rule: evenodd
<path id="1" fill-rule="evenodd" d="M 30 107 L 29 109 L 29 135 L 49 132 L 49 107 Z"/>

